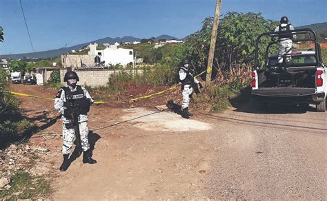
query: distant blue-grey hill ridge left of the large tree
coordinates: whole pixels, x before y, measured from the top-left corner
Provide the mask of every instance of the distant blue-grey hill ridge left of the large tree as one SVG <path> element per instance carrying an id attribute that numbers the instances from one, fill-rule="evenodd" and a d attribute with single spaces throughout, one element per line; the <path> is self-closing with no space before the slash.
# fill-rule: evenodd
<path id="1" fill-rule="evenodd" d="M 158 36 L 156 39 L 171 40 L 171 39 L 177 39 L 177 38 L 174 36 L 169 36 L 169 35 L 161 35 L 161 36 Z M 125 42 L 134 42 L 134 41 L 141 41 L 141 39 L 135 38 L 133 36 L 123 36 L 122 38 L 106 37 L 104 39 L 98 39 L 95 41 L 90 41 L 88 43 L 81 43 L 79 45 L 74 45 L 71 47 L 62 47 L 62 48 L 59 48 L 56 50 L 48 50 L 48 51 L 42 51 L 42 52 L 30 52 L 30 53 L 22 53 L 22 54 L 3 54 L 3 55 L 0 55 L 0 59 L 22 59 L 24 56 L 28 59 L 39 59 L 39 58 L 45 59 L 45 58 L 52 58 L 52 57 L 60 56 L 61 54 L 71 52 L 72 50 L 80 50 L 82 47 L 89 45 L 90 43 L 97 43 L 99 45 L 102 45 L 103 43 L 114 44 L 115 42 L 125 43 Z"/>

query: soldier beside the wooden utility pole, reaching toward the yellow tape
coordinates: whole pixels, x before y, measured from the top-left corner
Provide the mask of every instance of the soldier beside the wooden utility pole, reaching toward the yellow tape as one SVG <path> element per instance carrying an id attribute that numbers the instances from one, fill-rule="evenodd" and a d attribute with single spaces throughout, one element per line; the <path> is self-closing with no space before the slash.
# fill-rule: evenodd
<path id="1" fill-rule="evenodd" d="M 184 118 L 190 118 L 190 116 L 193 115 L 188 111 L 188 103 L 190 102 L 190 98 L 192 98 L 193 87 L 202 88 L 202 85 L 192 76 L 190 72 L 190 62 L 188 59 L 181 61 L 178 74 L 179 81 L 181 82 L 181 94 L 183 95 L 183 102 L 181 103 L 181 116 Z"/>

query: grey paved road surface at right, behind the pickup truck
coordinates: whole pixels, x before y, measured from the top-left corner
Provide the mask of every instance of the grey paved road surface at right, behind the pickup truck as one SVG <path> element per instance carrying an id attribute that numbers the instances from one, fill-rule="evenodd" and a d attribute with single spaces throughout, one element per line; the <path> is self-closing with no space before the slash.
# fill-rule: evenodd
<path id="1" fill-rule="evenodd" d="M 327 112 L 314 110 L 284 106 L 269 112 L 246 103 L 208 116 L 217 127 L 207 139 L 215 159 L 206 195 L 326 200 Z"/>

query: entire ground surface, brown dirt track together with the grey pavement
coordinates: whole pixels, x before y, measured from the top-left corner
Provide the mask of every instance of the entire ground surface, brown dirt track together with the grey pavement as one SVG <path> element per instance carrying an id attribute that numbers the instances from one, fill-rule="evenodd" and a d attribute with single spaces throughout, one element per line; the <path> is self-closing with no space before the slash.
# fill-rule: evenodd
<path id="1" fill-rule="evenodd" d="M 55 94 L 17 86 L 12 91 Z M 28 116 L 39 115 L 40 133 L 61 134 L 51 101 L 21 100 Z M 93 106 L 90 145 L 97 165 L 83 165 L 79 157 L 59 172 L 61 139 L 47 140 L 52 199 L 326 200 L 327 113 L 256 108 L 245 103 L 186 120 L 151 108 Z"/>

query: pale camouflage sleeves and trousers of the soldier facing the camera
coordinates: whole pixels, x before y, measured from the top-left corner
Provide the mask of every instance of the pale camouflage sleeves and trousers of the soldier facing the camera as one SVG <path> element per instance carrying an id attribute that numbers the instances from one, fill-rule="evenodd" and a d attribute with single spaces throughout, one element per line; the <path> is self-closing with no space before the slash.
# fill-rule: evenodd
<path id="1" fill-rule="evenodd" d="M 70 92 L 75 92 L 77 90 L 77 86 L 75 87 L 75 89 L 70 88 Z M 92 104 L 94 100 L 91 98 L 88 91 L 84 87 L 81 87 L 81 89 L 83 89 L 84 96 L 90 99 L 90 104 Z M 54 100 L 54 108 L 61 112 L 61 114 L 64 114 L 64 111 L 66 109 L 66 107 L 63 106 L 64 102 L 66 102 L 65 91 L 61 88 Z M 70 154 L 70 151 L 72 150 L 72 144 L 75 141 L 75 130 L 72 127 L 72 120 L 66 118 L 63 115 L 61 116 L 61 120 L 63 122 L 62 153 Z M 90 144 L 88 143 L 88 114 L 79 114 L 78 121 L 79 132 L 81 136 L 81 147 L 83 151 L 88 151 L 88 149 L 90 149 Z"/>

